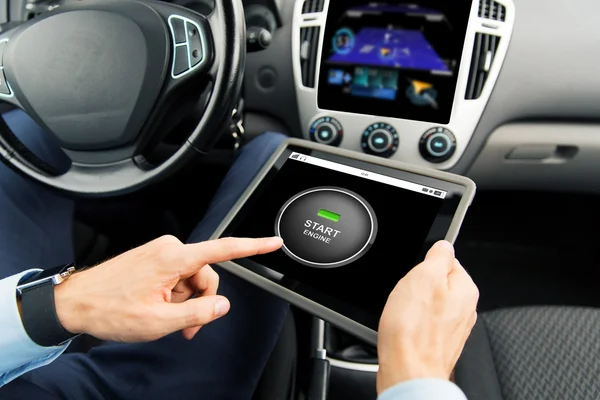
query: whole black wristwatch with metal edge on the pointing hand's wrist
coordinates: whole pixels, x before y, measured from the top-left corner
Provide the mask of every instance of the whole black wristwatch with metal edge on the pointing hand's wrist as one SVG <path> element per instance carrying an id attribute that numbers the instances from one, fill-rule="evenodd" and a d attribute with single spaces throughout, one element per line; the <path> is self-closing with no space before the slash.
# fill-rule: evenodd
<path id="1" fill-rule="evenodd" d="M 54 303 L 54 287 L 74 272 L 73 264 L 51 268 L 28 276 L 17 286 L 23 328 L 31 340 L 40 346 L 58 346 L 77 336 L 63 328 Z"/>

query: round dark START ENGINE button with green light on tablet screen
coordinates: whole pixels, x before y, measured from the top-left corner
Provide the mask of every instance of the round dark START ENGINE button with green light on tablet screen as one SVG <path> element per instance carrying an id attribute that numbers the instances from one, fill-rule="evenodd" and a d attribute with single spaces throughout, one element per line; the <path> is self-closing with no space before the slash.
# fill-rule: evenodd
<path id="1" fill-rule="evenodd" d="M 377 217 L 358 194 L 316 187 L 289 199 L 275 220 L 275 234 L 293 260 L 313 268 L 337 268 L 362 257 L 377 237 Z"/>

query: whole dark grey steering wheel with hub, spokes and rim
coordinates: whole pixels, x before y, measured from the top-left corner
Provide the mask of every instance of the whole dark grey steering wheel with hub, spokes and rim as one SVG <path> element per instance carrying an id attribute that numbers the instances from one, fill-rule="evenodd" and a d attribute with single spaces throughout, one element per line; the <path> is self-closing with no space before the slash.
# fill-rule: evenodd
<path id="1" fill-rule="evenodd" d="M 149 0 L 86 0 L 42 14 L 0 35 L 0 100 L 53 135 L 71 166 L 58 173 L 3 121 L 0 159 L 75 196 L 156 182 L 210 151 L 239 98 L 245 53 L 240 0 L 215 0 L 209 15 Z M 142 151 L 191 97 L 197 126 L 166 161 L 149 165 Z"/>

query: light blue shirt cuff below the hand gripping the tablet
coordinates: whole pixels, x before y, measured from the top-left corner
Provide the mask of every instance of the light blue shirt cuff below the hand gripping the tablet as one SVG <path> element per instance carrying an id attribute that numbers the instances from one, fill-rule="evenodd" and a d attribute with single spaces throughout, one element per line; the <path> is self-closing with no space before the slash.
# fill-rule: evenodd
<path id="1" fill-rule="evenodd" d="M 377 400 L 467 400 L 467 397 L 450 381 L 415 379 L 392 386 Z"/>

